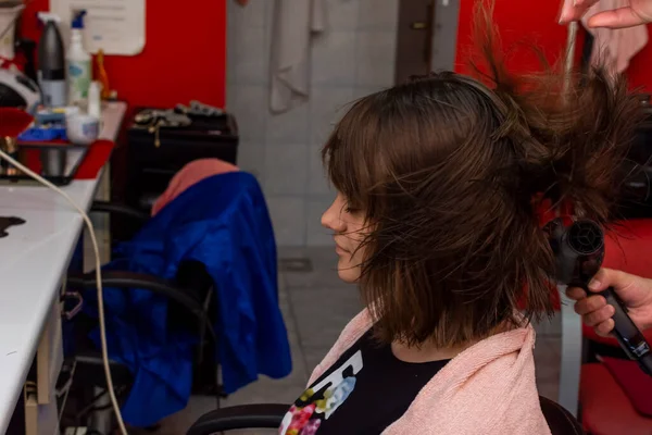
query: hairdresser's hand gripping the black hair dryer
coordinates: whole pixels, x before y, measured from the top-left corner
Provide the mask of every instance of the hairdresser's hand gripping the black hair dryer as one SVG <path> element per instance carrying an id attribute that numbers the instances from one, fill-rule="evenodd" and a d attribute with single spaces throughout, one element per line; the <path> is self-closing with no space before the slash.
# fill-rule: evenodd
<path id="1" fill-rule="evenodd" d="M 576 300 L 575 312 L 592 326 L 599 335 L 609 335 L 614 328 L 614 308 L 606 304 L 604 297 L 595 293 L 614 287 L 629 310 L 629 316 L 640 330 L 652 327 L 652 279 L 630 275 L 620 271 L 602 269 L 589 284 L 589 295 L 573 287 L 566 295 Z"/>

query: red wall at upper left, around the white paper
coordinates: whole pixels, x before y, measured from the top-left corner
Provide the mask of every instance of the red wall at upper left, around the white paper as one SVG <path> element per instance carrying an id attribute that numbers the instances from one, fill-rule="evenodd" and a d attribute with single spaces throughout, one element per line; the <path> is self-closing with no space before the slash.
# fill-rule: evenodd
<path id="1" fill-rule="evenodd" d="M 224 105 L 226 0 L 148 0 L 147 41 L 136 57 L 106 57 L 111 88 L 135 105 L 172 107 L 191 99 Z M 23 15 L 23 34 L 38 41 L 36 12 L 48 0 L 33 0 Z M 64 41 L 65 42 L 65 41 Z M 67 42 L 66 42 L 67 44 Z"/>

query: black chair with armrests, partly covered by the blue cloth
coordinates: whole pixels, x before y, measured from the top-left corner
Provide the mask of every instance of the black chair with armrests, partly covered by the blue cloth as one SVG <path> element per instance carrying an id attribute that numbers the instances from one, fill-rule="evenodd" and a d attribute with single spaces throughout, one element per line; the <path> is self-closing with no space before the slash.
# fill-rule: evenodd
<path id="1" fill-rule="evenodd" d="M 126 206 L 111 202 L 95 202 L 91 212 L 110 213 L 128 219 L 137 225 L 142 225 L 149 215 Z M 202 263 L 187 261 L 180 264 L 174 282 L 156 276 L 122 271 L 102 272 L 104 288 L 118 288 L 125 291 L 139 288 L 160 294 L 170 300 L 167 325 L 170 328 L 190 328 L 197 334 L 199 341 L 195 356 L 193 394 L 221 395 L 217 383 L 217 362 L 215 355 L 215 334 L 212 330 L 216 312 L 213 279 L 206 273 Z M 68 290 L 92 290 L 97 287 L 95 272 L 67 277 Z M 83 316 L 84 314 L 78 314 Z M 90 319 L 75 319 L 77 323 L 75 337 L 75 355 L 73 361 L 75 372 L 73 378 L 75 399 L 83 403 L 83 409 L 76 407 L 75 415 L 65 415 L 64 424 L 88 425 L 89 428 L 102 434 L 111 433 L 112 409 L 109 401 L 102 356 L 87 337 L 87 332 L 97 326 Z M 82 324 L 82 327 L 78 327 Z M 84 325 L 88 326 L 85 331 Z M 114 389 L 118 400 L 124 399 L 131 386 L 130 371 L 115 362 L 110 362 Z"/>

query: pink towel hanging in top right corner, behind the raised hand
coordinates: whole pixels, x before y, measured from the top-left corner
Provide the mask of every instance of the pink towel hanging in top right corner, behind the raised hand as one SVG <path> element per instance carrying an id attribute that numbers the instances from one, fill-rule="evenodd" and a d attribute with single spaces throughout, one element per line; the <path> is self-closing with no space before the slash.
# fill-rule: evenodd
<path id="1" fill-rule="evenodd" d="M 570 0 L 566 0 L 570 1 Z M 598 12 L 628 7 L 629 0 L 600 0 L 582 17 L 587 27 L 588 20 Z M 613 73 L 622 73 L 629 66 L 629 61 L 648 44 L 648 27 L 629 28 L 588 28 L 595 38 L 591 62 L 604 62 Z"/>

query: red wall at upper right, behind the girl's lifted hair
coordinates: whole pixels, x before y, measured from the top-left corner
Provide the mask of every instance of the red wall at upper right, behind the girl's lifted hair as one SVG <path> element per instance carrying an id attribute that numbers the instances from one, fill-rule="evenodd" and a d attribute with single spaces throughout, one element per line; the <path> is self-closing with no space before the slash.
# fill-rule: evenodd
<path id="1" fill-rule="evenodd" d="M 460 72 L 467 72 L 465 66 L 472 42 L 475 2 L 476 0 L 461 0 L 455 64 L 455 70 Z M 560 4 L 561 0 L 496 1 L 493 20 L 500 28 L 503 45 L 507 47 L 519 41 L 535 42 L 543 50 L 550 62 L 557 60 L 566 47 L 567 35 L 566 27 L 557 24 Z M 581 41 L 581 35 L 579 41 Z M 527 72 L 536 71 L 538 63 L 531 52 L 517 50 L 510 59 L 509 65 L 513 69 L 512 71 Z M 652 26 L 650 27 L 650 42 L 631 61 L 627 75 L 632 86 L 642 86 L 648 91 L 652 91 Z"/>

